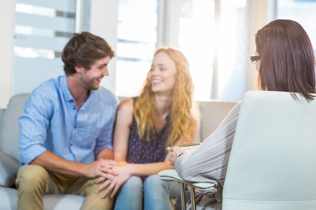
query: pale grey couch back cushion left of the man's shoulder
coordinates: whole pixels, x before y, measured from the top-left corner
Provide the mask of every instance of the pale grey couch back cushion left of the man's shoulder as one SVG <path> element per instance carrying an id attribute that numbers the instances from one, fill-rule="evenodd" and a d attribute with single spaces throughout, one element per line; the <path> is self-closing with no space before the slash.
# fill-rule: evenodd
<path id="1" fill-rule="evenodd" d="M 1 119 L 0 150 L 17 162 L 20 162 L 18 118 L 23 114 L 23 105 L 29 96 L 26 93 L 13 96 Z"/>

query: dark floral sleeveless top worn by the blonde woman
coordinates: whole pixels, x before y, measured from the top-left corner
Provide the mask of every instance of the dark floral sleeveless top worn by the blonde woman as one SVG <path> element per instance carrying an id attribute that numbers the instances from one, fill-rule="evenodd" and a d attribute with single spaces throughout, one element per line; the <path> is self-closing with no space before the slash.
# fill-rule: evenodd
<path id="1" fill-rule="evenodd" d="M 137 97 L 133 98 L 134 103 Z M 160 131 L 154 129 L 151 133 L 150 142 L 144 138 L 140 138 L 137 133 L 136 118 L 133 115 L 132 124 L 130 126 L 130 134 L 128 139 L 128 163 L 156 163 L 164 162 L 167 151 L 165 149 L 168 141 L 170 116 L 166 117 L 166 123 Z"/>

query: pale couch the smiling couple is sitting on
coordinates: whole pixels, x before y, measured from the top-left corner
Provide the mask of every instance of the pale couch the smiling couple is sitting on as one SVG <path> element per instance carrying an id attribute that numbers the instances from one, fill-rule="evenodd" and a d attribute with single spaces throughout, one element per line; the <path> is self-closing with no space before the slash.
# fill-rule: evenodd
<path id="1" fill-rule="evenodd" d="M 29 94 L 13 96 L 7 109 L 0 109 L 0 210 L 15 210 L 17 190 L 14 187 L 19 167 L 19 124 L 23 104 Z M 200 142 L 212 133 L 236 103 L 220 101 L 197 101 L 201 111 L 200 131 L 195 142 Z M 77 195 L 46 195 L 45 210 L 79 210 L 84 197 Z"/>

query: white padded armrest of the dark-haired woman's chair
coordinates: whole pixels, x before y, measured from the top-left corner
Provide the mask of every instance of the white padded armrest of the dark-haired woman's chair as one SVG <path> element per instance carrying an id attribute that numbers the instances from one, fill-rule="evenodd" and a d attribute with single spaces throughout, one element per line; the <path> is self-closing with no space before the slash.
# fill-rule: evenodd
<path id="1" fill-rule="evenodd" d="M 164 181 L 177 181 L 193 187 L 200 191 L 216 190 L 215 184 L 209 182 L 187 182 L 183 181 L 175 169 L 168 169 L 158 173 L 159 178 Z"/>

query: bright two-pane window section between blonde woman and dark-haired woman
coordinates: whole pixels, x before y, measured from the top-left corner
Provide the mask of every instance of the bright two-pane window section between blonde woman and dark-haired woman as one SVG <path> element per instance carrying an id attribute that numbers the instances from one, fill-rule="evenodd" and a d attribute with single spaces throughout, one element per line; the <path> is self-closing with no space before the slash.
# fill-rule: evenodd
<path id="1" fill-rule="evenodd" d="M 194 98 L 241 100 L 246 89 L 246 0 L 182 0 L 179 47 L 188 57 Z"/>

